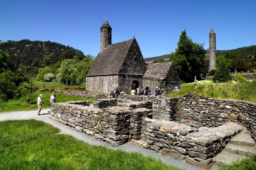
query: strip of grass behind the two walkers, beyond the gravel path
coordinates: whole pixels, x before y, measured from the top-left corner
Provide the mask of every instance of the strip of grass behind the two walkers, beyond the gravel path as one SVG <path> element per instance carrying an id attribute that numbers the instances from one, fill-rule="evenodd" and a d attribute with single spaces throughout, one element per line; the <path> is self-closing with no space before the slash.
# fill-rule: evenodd
<path id="1" fill-rule="evenodd" d="M 50 96 L 52 93 L 48 92 L 38 92 L 38 94 L 42 94 L 43 102 L 42 102 L 42 108 L 51 108 L 50 106 Z M 69 102 L 69 101 L 81 101 L 86 100 L 89 101 L 91 104 L 96 101 L 95 98 L 85 98 L 85 97 L 79 97 L 79 96 L 71 96 L 71 95 L 64 95 L 61 92 L 56 92 L 56 102 Z M 38 96 L 37 96 L 38 97 Z M 0 113 L 3 112 L 9 112 L 9 111 L 32 111 L 37 110 L 37 97 L 34 99 L 33 104 L 27 104 L 21 100 L 18 99 L 12 99 L 8 102 L 0 102 Z"/>

